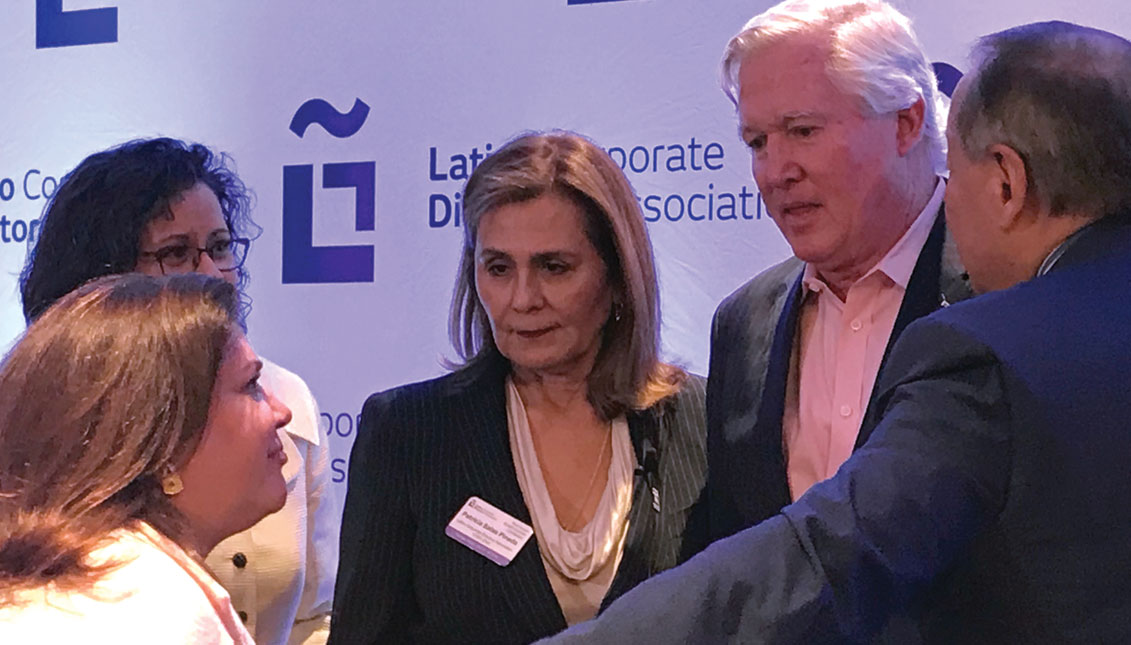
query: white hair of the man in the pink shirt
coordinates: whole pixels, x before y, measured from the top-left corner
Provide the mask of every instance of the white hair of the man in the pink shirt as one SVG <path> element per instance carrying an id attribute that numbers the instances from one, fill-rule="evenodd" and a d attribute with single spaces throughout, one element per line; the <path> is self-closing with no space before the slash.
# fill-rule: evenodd
<path id="1" fill-rule="evenodd" d="M 925 105 L 923 141 L 936 172 L 947 165 L 947 106 L 912 23 L 880 0 L 785 0 L 754 16 L 723 54 L 723 91 L 739 104 L 739 68 L 762 48 L 802 35 L 828 40 L 829 79 L 872 114 Z"/>

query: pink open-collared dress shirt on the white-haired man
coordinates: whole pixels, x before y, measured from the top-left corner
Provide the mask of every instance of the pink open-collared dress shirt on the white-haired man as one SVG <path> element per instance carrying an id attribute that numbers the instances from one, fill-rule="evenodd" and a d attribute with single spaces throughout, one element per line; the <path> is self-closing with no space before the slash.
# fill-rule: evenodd
<path id="1" fill-rule="evenodd" d="M 907 282 L 942 205 L 946 184 L 841 302 L 811 265 L 802 276 L 798 345 L 782 420 L 789 492 L 832 476 L 856 444 Z"/>

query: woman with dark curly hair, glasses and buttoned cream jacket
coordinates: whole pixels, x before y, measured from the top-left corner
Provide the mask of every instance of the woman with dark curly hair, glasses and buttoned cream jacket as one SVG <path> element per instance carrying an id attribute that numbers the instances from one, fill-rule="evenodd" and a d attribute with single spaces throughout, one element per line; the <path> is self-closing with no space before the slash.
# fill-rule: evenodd
<path id="1" fill-rule="evenodd" d="M 243 261 L 257 227 L 248 190 L 226 161 L 166 138 L 85 158 L 48 204 L 20 276 L 28 321 L 80 284 L 128 272 L 223 278 L 240 290 L 245 312 Z M 338 536 L 329 444 L 302 379 L 265 360 L 261 382 L 293 412 L 279 432 L 286 506 L 221 542 L 207 562 L 257 643 L 325 643 Z"/>

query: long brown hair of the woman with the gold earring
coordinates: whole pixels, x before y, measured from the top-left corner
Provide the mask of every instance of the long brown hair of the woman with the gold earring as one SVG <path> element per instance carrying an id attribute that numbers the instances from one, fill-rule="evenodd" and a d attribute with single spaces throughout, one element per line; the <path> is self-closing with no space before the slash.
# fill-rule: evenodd
<path id="1" fill-rule="evenodd" d="M 196 450 L 236 320 L 235 289 L 198 274 L 80 286 L 0 363 L 0 607 L 87 588 L 88 556 L 145 521 L 174 541 L 162 478 Z"/>

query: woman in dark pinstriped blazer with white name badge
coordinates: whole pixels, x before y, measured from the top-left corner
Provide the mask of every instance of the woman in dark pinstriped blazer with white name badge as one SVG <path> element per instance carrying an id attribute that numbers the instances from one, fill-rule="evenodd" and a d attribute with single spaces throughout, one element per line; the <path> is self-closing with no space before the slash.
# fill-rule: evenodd
<path id="1" fill-rule="evenodd" d="M 578 135 L 527 135 L 464 216 L 461 364 L 365 403 L 331 643 L 529 643 L 684 558 L 703 380 L 658 358 L 628 180 Z"/>

